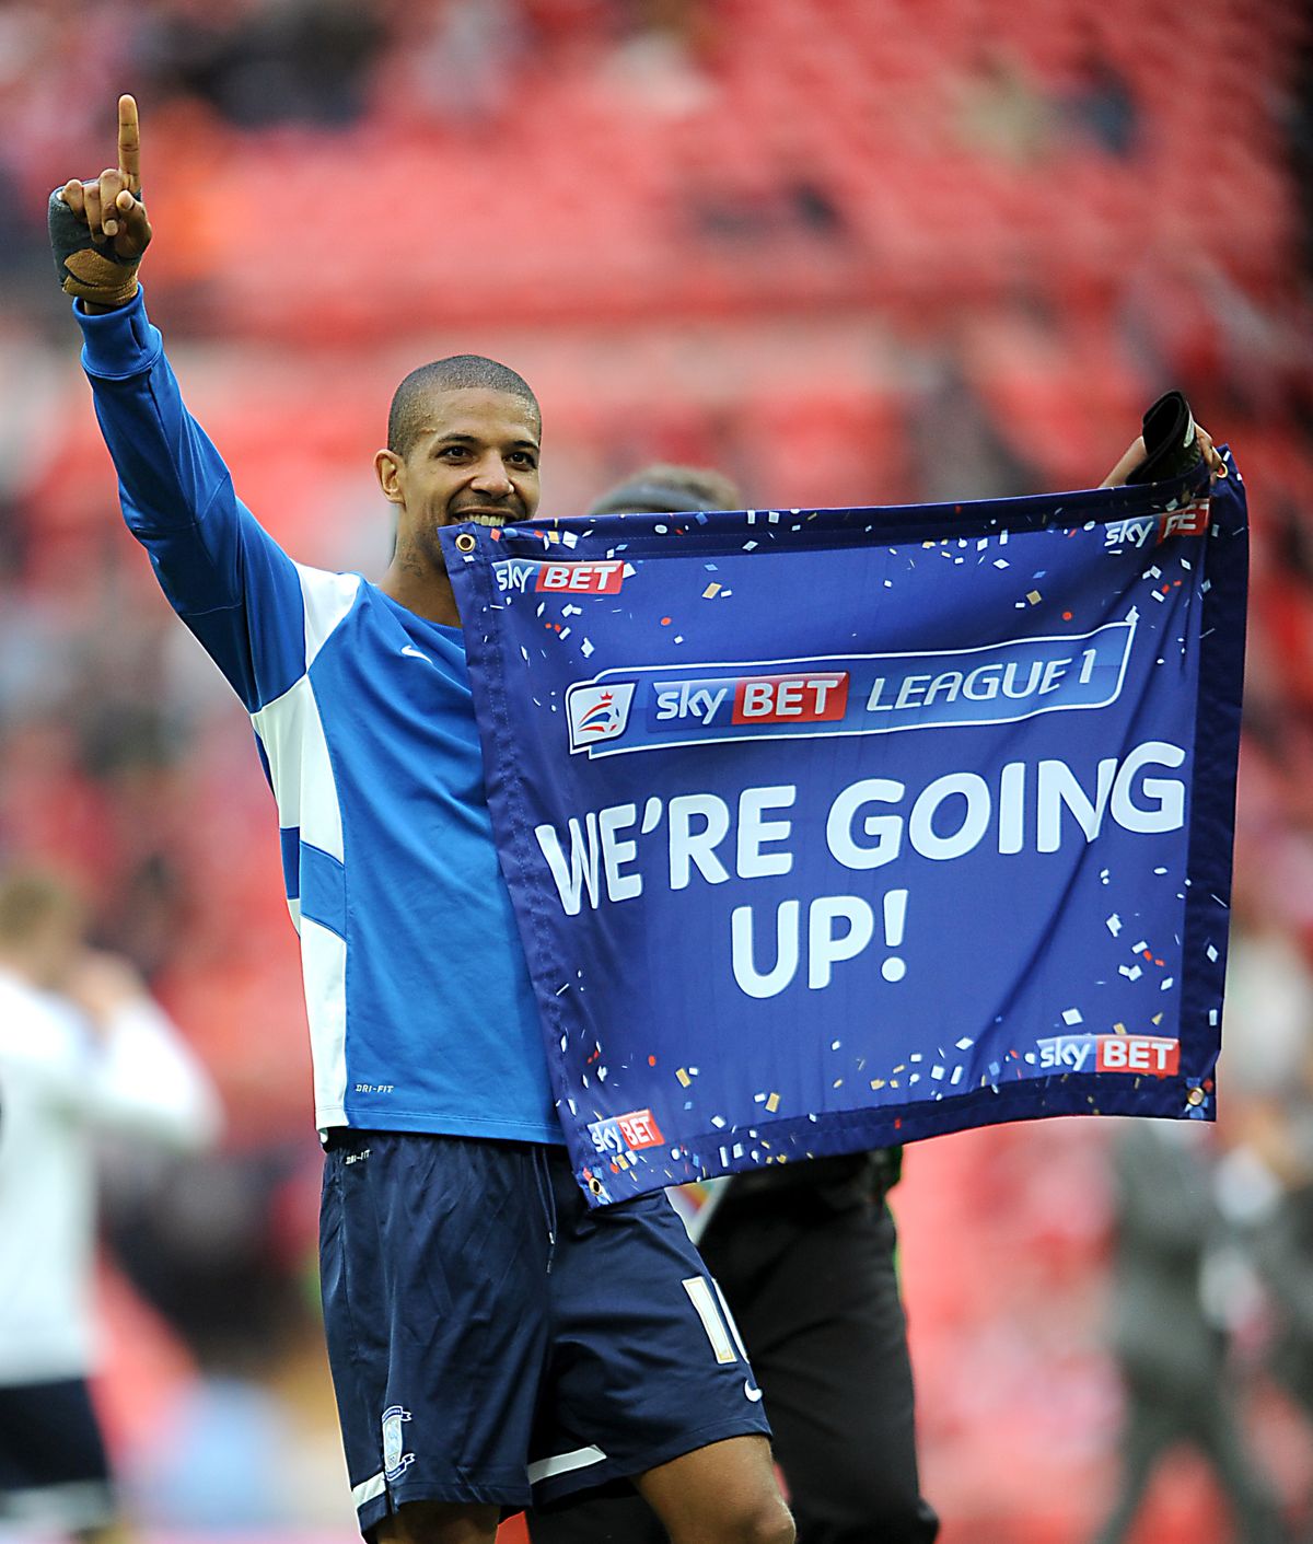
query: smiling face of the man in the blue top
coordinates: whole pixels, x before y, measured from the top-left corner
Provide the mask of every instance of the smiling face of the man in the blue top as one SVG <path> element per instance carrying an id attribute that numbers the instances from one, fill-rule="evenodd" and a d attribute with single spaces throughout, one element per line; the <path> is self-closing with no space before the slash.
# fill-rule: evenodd
<path id="1" fill-rule="evenodd" d="M 375 457 L 383 496 L 399 511 L 399 554 L 409 548 L 440 571 L 443 525 L 531 519 L 541 438 L 524 397 L 482 386 L 431 392 L 405 452 Z"/>

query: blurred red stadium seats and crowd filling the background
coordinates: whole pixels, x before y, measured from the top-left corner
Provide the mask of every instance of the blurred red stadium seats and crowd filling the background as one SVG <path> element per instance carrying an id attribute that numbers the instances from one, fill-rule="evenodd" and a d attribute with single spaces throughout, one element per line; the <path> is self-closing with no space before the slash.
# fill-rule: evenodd
<path id="1" fill-rule="evenodd" d="M 1087 486 L 1168 386 L 1231 443 L 1254 551 L 1228 1050 L 1182 1251 L 1222 1357 L 1191 1371 L 1237 1393 L 1287 1518 L 1313 1525 L 1307 8 L 0 0 L 0 865 L 77 877 L 96 942 L 150 980 L 227 1110 L 218 1153 L 110 1166 L 100 1396 L 161 1538 L 346 1541 L 270 795 L 120 525 L 45 239 L 48 190 L 113 157 L 124 90 L 151 315 L 304 562 L 382 571 L 391 391 L 462 350 L 534 384 L 555 516 L 652 459 L 785 505 Z M 908 1155 L 894 1209 L 945 1544 L 1091 1538 L 1135 1356 L 1174 1377 L 1152 1357 L 1180 1319 L 1146 1306 L 1137 1351 L 1114 1292 L 1145 1265 L 1121 1124 Z M 1231 1536 L 1189 1454 L 1138 1527 Z"/>

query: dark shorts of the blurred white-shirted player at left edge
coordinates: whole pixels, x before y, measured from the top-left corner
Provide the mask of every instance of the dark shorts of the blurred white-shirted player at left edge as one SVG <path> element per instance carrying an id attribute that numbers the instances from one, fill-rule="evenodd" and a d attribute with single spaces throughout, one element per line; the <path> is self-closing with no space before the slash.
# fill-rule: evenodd
<path id="1" fill-rule="evenodd" d="M 0 1525 L 76 1533 L 108 1525 L 114 1510 L 87 1383 L 0 1387 Z"/>

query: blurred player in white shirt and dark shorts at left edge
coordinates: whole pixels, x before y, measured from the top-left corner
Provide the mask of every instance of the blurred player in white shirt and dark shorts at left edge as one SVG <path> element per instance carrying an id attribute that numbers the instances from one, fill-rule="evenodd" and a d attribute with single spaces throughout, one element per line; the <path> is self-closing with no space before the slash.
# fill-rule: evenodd
<path id="1" fill-rule="evenodd" d="M 0 1532 L 122 1538 L 87 1379 L 96 1138 L 215 1141 L 209 1078 L 133 967 L 87 948 L 77 892 L 0 874 Z"/>

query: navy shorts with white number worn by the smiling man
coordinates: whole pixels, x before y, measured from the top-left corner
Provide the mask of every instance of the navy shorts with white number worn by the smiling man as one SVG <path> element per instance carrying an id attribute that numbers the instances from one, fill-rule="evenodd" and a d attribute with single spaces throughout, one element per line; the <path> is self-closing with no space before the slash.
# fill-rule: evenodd
<path id="1" fill-rule="evenodd" d="M 408 1501 L 514 1512 L 769 1436 L 670 1203 L 589 1210 L 564 1149 L 335 1130 L 320 1261 L 361 1532 Z"/>

